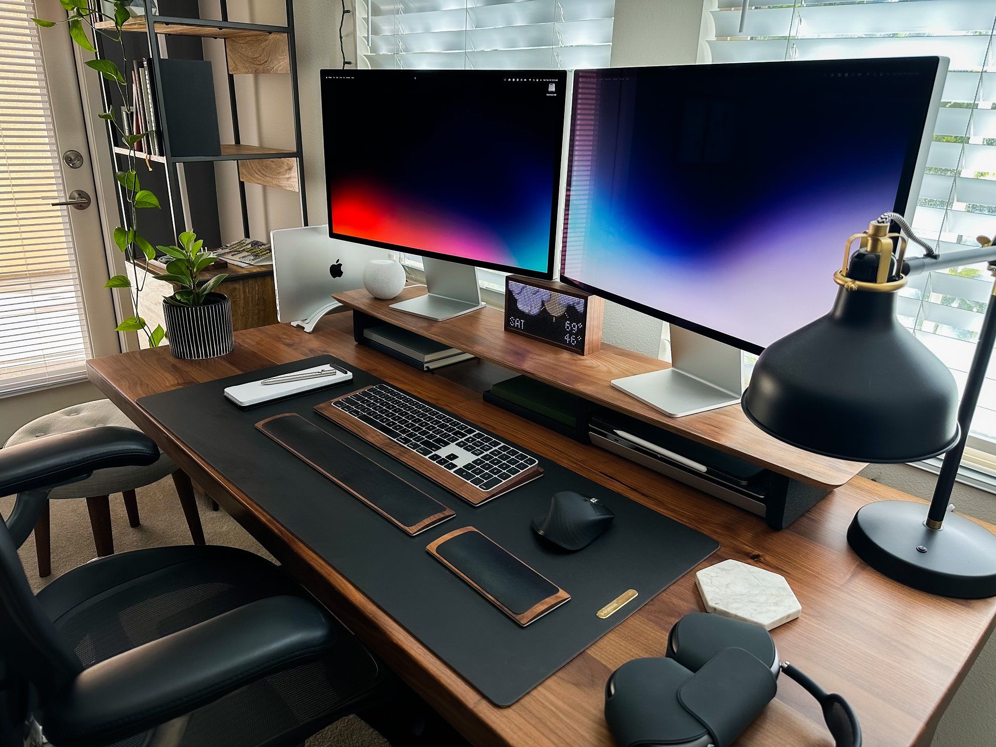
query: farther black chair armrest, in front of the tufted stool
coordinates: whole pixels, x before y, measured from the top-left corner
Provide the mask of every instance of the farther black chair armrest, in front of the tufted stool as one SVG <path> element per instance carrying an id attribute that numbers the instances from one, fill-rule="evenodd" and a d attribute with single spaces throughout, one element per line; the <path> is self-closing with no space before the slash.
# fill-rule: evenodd
<path id="1" fill-rule="evenodd" d="M 0 496 L 54 488 L 98 469 L 151 464 L 155 441 L 121 425 L 102 425 L 36 438 L 0 449 Z"/>

